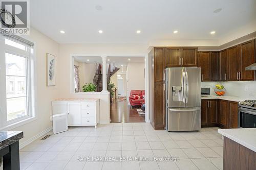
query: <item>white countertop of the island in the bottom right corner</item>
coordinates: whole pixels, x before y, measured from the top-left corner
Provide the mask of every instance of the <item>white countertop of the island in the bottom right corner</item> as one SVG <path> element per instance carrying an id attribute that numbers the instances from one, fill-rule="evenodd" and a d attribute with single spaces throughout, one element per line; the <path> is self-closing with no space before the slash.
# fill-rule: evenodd
<path id="1" fill-rule="evenodd" d="M 256 128 L 218 129 L 218 133 L 256 152 Z"/>

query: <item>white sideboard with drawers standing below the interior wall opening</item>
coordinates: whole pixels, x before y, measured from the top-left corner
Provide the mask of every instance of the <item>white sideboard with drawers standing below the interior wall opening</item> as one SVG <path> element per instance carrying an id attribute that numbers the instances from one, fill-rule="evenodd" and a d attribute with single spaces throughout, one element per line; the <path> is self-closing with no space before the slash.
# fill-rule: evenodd
<path id="1" fill-rule="evenodd" d="M 99 99 L 56 99 L 52 114 L 68 114 L 68 126 L 95 126 L 99 123 Z"/>

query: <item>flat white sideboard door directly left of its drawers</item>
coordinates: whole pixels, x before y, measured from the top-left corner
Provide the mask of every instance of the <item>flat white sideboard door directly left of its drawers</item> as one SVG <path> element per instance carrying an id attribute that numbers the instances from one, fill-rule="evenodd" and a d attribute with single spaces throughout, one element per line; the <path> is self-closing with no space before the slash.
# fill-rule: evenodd
<path id="1" fill-rule="evenodd" d="M 78 103 L 78 102 L 68 103 L 68 125 L 69 126 L 81 125 L 81 103 Z"/>

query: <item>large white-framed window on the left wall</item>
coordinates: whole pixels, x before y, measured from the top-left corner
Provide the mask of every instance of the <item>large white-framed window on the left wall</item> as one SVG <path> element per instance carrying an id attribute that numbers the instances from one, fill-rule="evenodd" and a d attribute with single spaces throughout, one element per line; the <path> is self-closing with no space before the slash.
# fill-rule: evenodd
<path id="1" fill-rule="evenodd" d="M 5 67 L 5 71 L 1 72 L 0 81 L 5 81 L 6 88 L 0 95 L 1 100 L 5 101 L 1 103 L 3 115 L 0 115 L 0 128 L 34 116 L 33 46 L 17 39 L 3 37 L 0 35 L 0 45 L 4 46 L 4 53 L 0 49 L 0 66 Z"/>

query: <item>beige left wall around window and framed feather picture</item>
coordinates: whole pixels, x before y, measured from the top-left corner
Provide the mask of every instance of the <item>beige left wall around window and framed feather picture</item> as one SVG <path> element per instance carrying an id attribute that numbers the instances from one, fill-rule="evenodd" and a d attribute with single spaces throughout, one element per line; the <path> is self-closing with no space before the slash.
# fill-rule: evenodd
<path id="1" fill-rule="evenodd" d="M 56 86 L 46 86 L 46 53 L 56 56 L 56 68 L 58 68 L 60 66 L 58 43 L 33 28 L 30 29 L 30 36 L 25 38 L 35 43 L 35 113 L 37 119 L 26 125 L 12 129 L 12 131 L 24 132 L 24 138 L 20 140 L 20 143 L 27 141 L 52 126 L 52 122 L 50 121 L 52 110 L 51 101 L 58 98 L 58 87 L 60 86 L 59 82 L 56 82 Z M 56 80 L 61 76 L 62 74 L 56 71 Z"/>

